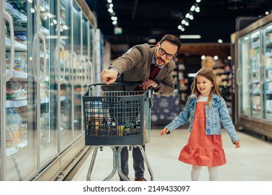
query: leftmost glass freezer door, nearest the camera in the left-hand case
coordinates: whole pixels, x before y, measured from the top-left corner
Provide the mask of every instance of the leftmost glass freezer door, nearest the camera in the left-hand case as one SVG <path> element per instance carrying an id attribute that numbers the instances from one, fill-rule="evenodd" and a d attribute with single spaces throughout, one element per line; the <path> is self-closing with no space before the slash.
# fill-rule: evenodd
<path id="1" fill-rule="evenodd" d="M 3 3 L 3 2 L 1 2 Z M 32 40 L 29 19 L 33 4 L 26 1 L 5 1 L 3 8 L 12 22 L 6 20 L 3 33 L 6 50 L 6 162 L 2 180 L 27 180 L 37 170 L 35 132 L 33 132 L 33 77 L 28 61 Z M 2 8 L 2 7 L 1 7 Z M 14 37 L 12 34 L 14 33 Z M 12 52 L 14 45 L 15 52 Z M 14 54 L 14 57 L 13 57 Z M 3 140 L 3 138 L 1 138 Z"/>

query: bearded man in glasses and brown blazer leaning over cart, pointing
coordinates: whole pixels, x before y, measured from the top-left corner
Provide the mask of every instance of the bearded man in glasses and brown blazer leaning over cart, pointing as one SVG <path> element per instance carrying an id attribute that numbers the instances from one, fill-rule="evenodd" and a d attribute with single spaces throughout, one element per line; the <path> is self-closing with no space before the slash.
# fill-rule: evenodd
<path id="1" fill-rule="evenodd" d="M 175 68 L 173 59 L 181 47 L 179 38 L 165 35 L 156 45 L 135 45 L 126 54 L 116 59 L 109 69 L 101 72 L 103 82 L 142 82 L 139 86 L 121 86 L 114 90 L 146 90 L 150 86 L 155 93 L 171 95 L 174 91 L 172 72 Z M 103 89 L 104 90 L 104 89 Z M 143 146 L 143 148 L 145 148 Z M 133 168 L 135 181 L 146 181 L 144 178 L 144 159 L 139 148 L 133 147 Z M 121 150 L 121 170 L 128 176 L 128 148 Z M 121 178 L 122 180 L 122 178 Z"/>

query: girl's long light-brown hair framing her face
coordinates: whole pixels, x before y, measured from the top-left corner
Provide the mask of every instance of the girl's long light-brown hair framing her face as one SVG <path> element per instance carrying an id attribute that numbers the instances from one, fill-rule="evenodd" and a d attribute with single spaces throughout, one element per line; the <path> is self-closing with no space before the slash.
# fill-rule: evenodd
<path id="1" fill-rule="evenodd" d="M 192 86 L 191 86 L 192 94 L 197 94 L 197 97 L 199 97 L 199 95 L 201 95 L 201 93 L 197 90 L 197 77 L 198 76 L 205 77 L 209 81 L 213 82 L 213 87 L 211 88 L 211 93 L 208 96 L 208 102 L 211 105 L 211 95 L 213 95 L 213 93 L 216 93 L 216 95 L 221 96 L 219 88 L 218 88 L 218 84 L 216 83 L 216 75 L 215 75 L 213 69 L 211 69 L 211 68 L 201 68 L 197 72 L 197 75 L 195 75 L 195 78 L 192 81 Z"/>

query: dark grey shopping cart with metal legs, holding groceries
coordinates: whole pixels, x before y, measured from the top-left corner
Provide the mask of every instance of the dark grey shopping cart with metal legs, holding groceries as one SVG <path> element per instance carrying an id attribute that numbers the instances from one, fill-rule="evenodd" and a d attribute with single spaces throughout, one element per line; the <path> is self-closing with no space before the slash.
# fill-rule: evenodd
<path id="1" fill-rule="evenodd" d="M 121 171 L 121 150 L 126 146 L 130 150 L 139 148 L 153 180 L 153 172 L 142 147 L 150 141 L 152 88 L 123 91 L 123 88 L 138 84 L 91 84 L 83 95 L 85 145 L 95 146 L 86 180 L 91 180 L 98 148 L 102 151 L 105 146 L 112 148 L 113 169 L 104 180 L 111 180 L 116 171 L 123 180 L 129 180 Z"/>

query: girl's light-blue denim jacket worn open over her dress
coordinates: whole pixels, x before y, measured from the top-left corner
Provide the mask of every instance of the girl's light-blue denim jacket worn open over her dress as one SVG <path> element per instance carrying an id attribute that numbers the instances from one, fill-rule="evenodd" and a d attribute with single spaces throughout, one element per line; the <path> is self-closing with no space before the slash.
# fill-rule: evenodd
<path id="1" fill-rule="evenodd" d="M 229 137 L 232 139 L 232 143 L 235 141 L 239 141 L 239 137 L 237 137 L 236 130 L 232 123 L 232 119 L 229 116 L 229 111 L 227 110 L 227 105 L 225 100 L 222 97 L 219 97 L 216 94 L 211 96 L 211 103 L 212 107 L 210 107 L 209 103 L 207 102 L 205 107 L 205 114 L 206 114 L 206 135 L 213 135 L 213 134 L 221 134 L 221 124 Z M 177 127 L 184 125 L 190 119 L 190 126 L 189 132 L 192 131 L 192 123 L 195 118 L 195 107 L 197 104 L 197 95 L 192 94 L 189 96 L 188 101 L 186 102 L 185 109 L 179 116 L 176 116 L 171 123 L 166 125 L 165 127 L 167 130 L 172 132 Z"/>

